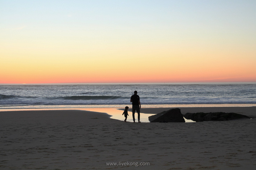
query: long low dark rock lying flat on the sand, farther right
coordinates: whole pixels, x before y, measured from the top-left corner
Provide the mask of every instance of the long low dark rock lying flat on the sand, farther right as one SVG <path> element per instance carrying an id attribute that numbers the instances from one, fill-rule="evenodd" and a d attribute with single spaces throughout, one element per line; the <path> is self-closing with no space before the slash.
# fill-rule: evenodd
<path id="1" fill-rule="evenodd" d="M 186 119 L 191 119 L 193 121 L 225 121 L 233 119 L 247 118 L 248 116 L 238 114 L 238 113 L 224 113 L 224 112 L 210 112 L 210 113 L 186 113 L 184 115 Z"/>

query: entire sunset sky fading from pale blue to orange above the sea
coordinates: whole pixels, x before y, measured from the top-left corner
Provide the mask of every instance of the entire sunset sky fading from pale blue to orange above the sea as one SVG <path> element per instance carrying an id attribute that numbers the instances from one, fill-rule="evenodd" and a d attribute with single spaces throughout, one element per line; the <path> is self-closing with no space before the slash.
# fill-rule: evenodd
<path id="1" fill-rule="evenodd" d="M 255 0 L 0 0 L 0 83 L 256 82 Z"/>

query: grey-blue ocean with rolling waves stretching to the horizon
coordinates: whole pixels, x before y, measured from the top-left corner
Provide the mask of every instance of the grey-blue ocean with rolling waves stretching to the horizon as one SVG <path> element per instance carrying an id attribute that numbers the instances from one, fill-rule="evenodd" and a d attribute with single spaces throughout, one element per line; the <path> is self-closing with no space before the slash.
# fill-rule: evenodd
<path id="1" fill-rule="evenodd" d="M 134 90 L 143 107 L 256 106 L 256 83 L 2 84 L 0 109 L 123 107 Z"/>

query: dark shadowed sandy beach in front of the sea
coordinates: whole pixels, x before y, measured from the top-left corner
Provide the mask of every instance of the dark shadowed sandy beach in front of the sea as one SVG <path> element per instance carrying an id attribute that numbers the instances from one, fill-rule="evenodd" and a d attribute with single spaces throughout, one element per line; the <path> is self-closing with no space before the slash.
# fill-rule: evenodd
<path id="1" fill-rule="evenodd" d="M 142 113 L 168 109 L 142 108 Z M 234 112 L 253 119 L 125 123 L 80 110 L 0 112 L 0 169 L 256 168 L 256 107 L 180 109 L 182 114 Z"/>

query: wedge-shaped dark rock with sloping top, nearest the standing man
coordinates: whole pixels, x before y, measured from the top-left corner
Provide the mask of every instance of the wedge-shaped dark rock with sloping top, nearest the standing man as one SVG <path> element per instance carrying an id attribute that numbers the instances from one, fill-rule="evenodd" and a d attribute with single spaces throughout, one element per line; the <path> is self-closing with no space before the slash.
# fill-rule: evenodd
<path id="1" fill-rule="evenodd" d="M 150 122 L 185 122 L 180 109 L 170 109 L 149 117 Z"/>

